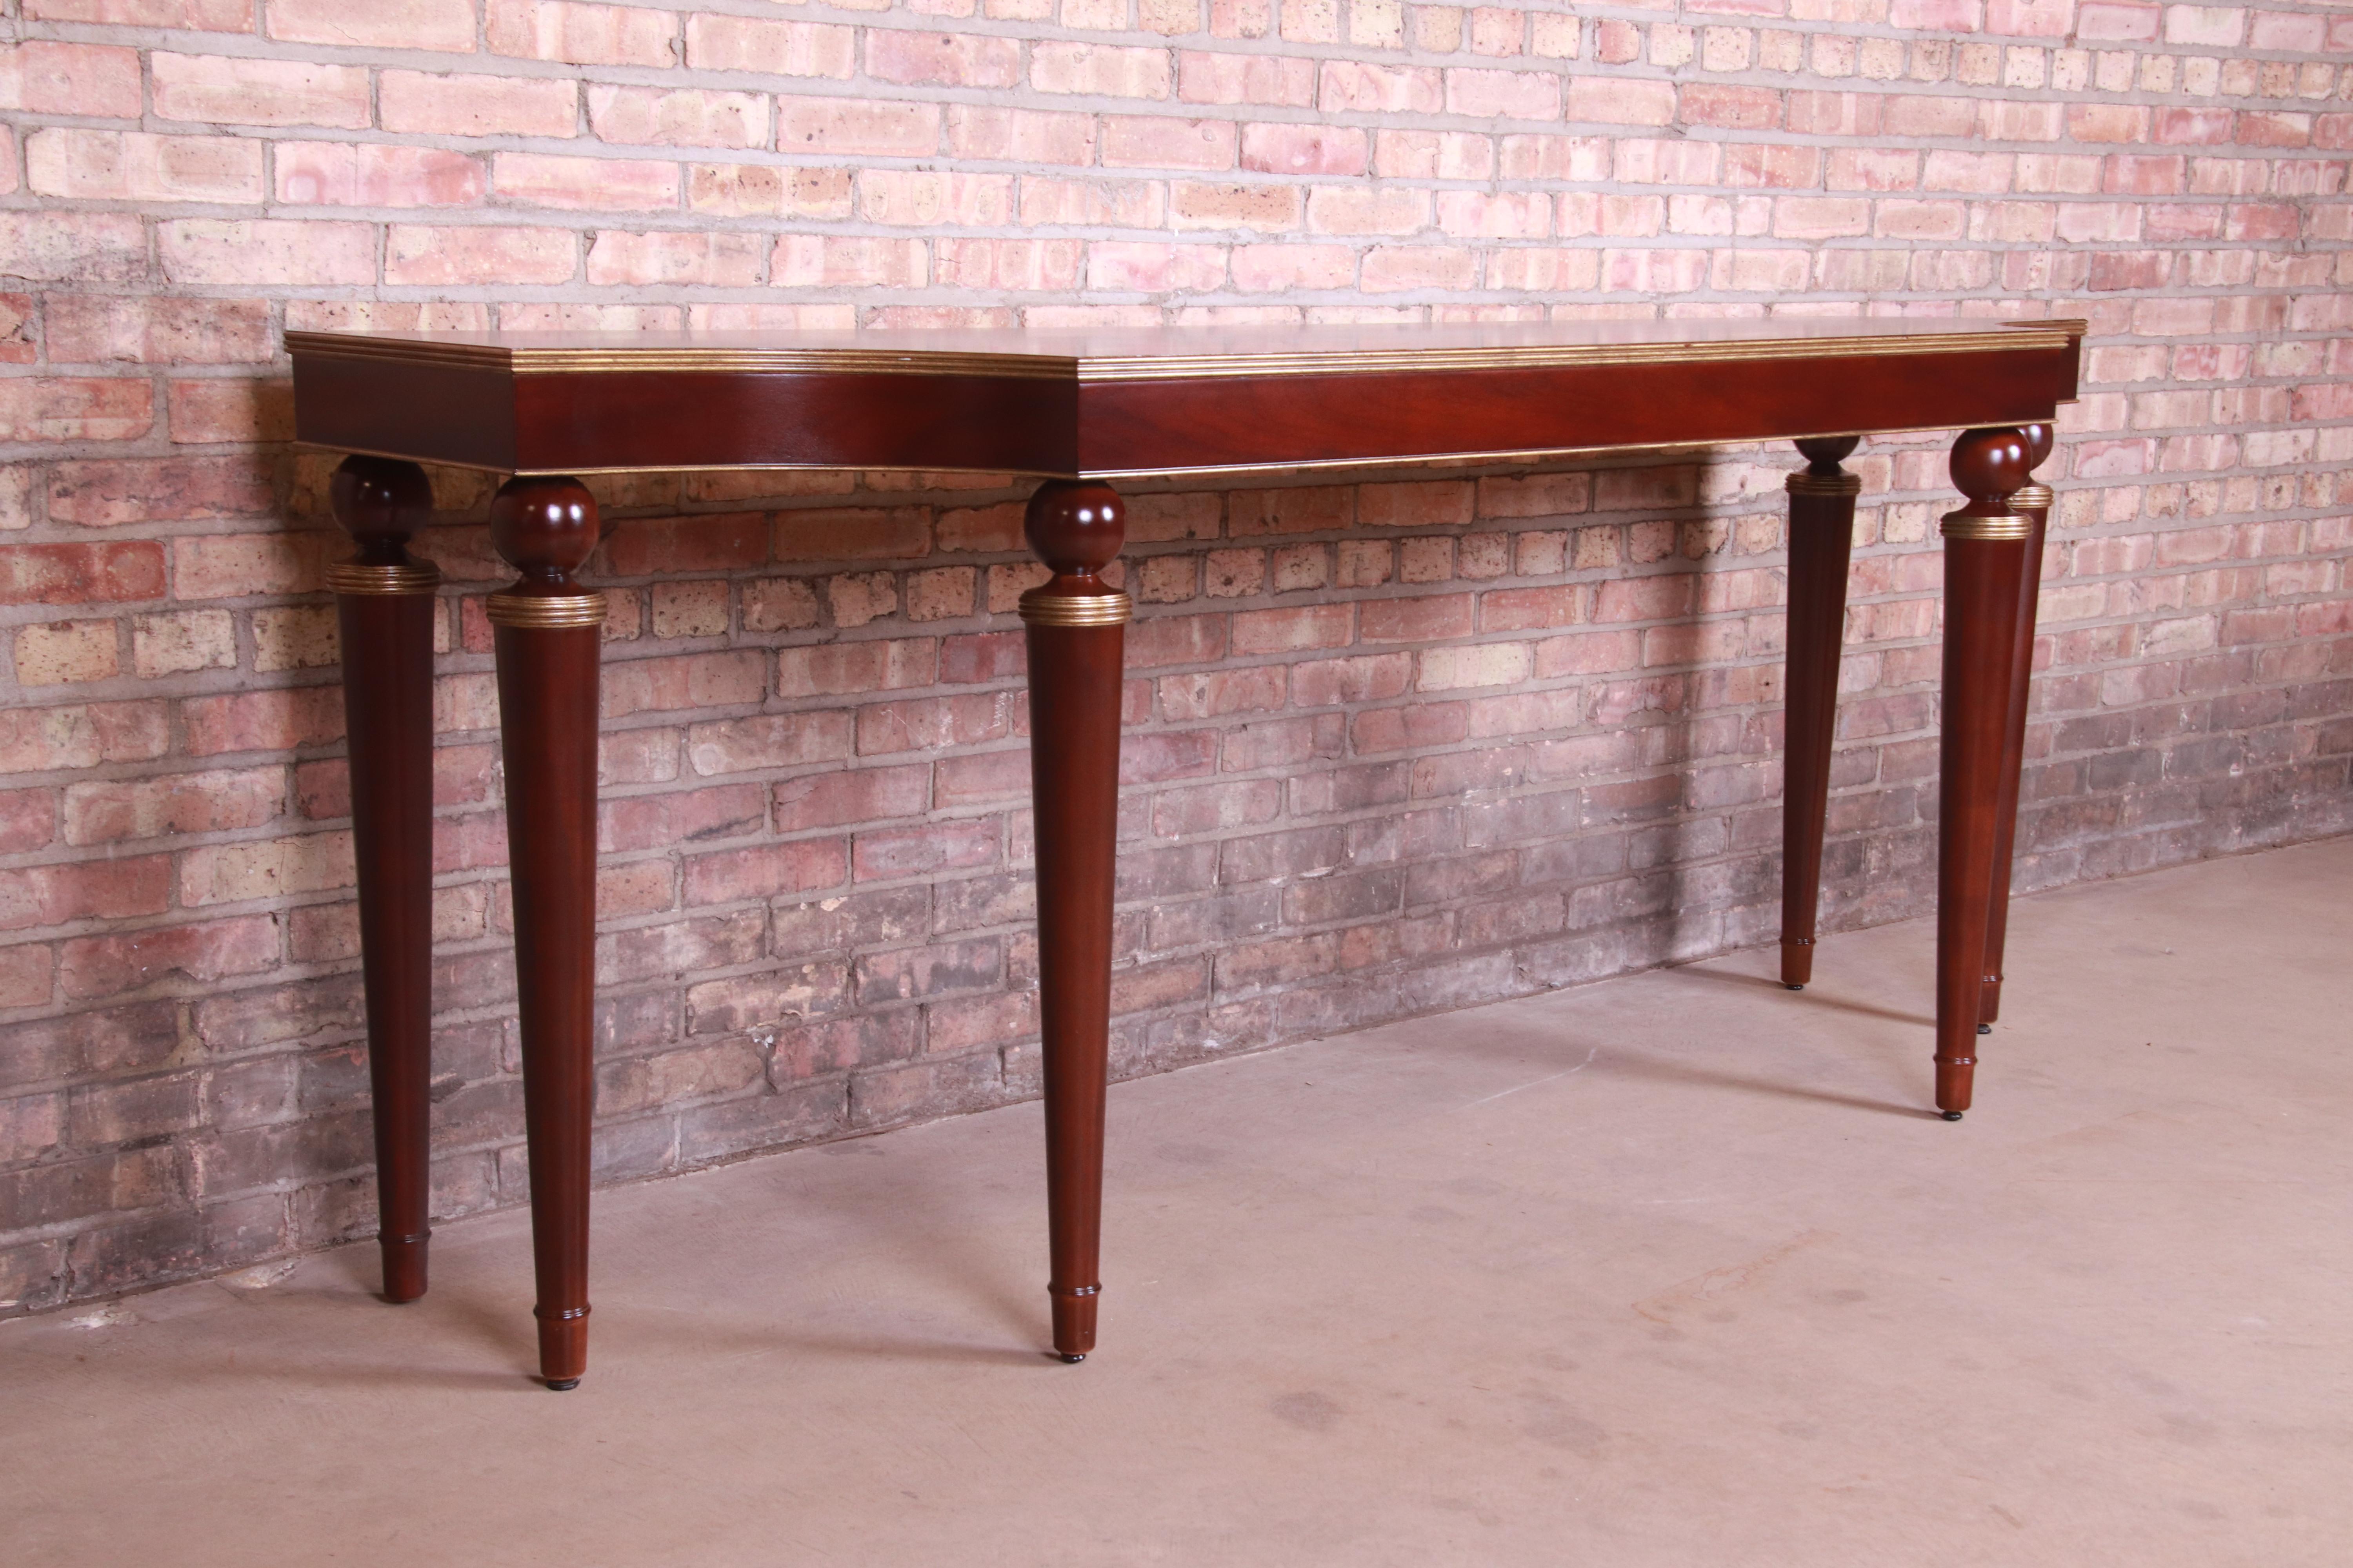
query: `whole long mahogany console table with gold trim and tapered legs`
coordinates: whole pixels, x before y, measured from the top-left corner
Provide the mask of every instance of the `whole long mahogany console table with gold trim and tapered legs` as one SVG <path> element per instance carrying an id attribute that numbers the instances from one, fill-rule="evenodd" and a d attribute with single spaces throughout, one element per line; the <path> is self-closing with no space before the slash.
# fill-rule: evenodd
<path id="1" fill-rule="evenodd" d="M 1021 597 L 1038 809 L 1040 1023 L 1054 1349 L 1094 1347 L 1104 1051 L 1111 1009 L 1120 654 L 1104 581 L 1122 475 L 1515 461 L 1795 440 L 1788 480 L 1788 785 L 1781 978 L 1812 976 L 1831 724 L 1859 480 L 1885 430 L 1965 428 L 1944 520 L 1944 776 L 1937 863 L 1937 1107 L 1969 1105 L 2000 1001 L 2035 567 L 2052 494 L 2031 484 L 2075 395 L 2082 322 L 1642 322 L 1151 331 L 320 334 L 289 331 L 296 435 L 355 454 L 334 515 L 353 827 L 374 1084 L 384 1291 L 426 1288 L 426 1079 L 438 574 L 407 552 L 433 496 L 416 465 L 513 475 L 489 595 L 515 889 L 539 1361 L 588 1354 L 591 947 L 598 545 L 581 473 L 904 468 L 1045 480 Z"/>

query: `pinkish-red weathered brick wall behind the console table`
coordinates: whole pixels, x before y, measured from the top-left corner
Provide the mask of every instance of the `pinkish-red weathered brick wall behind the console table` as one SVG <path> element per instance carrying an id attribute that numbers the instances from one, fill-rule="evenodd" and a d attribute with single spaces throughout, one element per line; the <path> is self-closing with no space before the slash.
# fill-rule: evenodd
<path id="1" fill-rule="evenodd" d="M 0 1309 L 372 1227 L 285 327 L 2087 315 L 2021 884 L 2353 827 L 2353 12 L 0 12 Z M 1831 929 L 1932 889 L 1944 444 L 1857 463 Z M 1136 487 L 1120 1072 L 1769 938 L 1788 465 Z M 522 1150 L 435 482 L 454 1215 Z M 1021 489 L 600 491 L 602 1173 L 1031 1093 Z"/>

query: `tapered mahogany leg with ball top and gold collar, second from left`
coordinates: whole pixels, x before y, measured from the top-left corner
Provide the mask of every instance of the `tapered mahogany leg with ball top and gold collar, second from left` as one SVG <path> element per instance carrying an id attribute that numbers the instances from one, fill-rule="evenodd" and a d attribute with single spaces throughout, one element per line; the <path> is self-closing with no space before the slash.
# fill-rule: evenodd
<path id="1" fill-rule="evenodd" d="M 489 597 L 515 879 L 522 1119 L 532 1164 L 539 1373 L 588 1366 L 588 1016 L 595 999 L 595 729 L 605 595 L 572 574 L 598 543 L 579 480 L 508 480 L 489 541 L 520 581 Z"/>

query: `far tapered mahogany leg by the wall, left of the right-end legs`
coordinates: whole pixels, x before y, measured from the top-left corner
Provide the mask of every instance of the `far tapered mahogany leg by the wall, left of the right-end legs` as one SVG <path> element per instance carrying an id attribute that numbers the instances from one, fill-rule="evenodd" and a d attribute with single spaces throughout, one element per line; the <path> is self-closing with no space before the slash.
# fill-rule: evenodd
<path id="1" fill-rule="evenodd" d="M 1838 731 L 1838 646 L 1847 623 L 1847 555 L 1864 482 L 1838 465 L 1859 437 L 1798 442 L 1805 473 L 1788 477 L 1788 661 L 1781 762 L 1781 985 L 1814 978 L 1821 910 L 1821 832 L 1831 809 L 1831 736 Z"/>

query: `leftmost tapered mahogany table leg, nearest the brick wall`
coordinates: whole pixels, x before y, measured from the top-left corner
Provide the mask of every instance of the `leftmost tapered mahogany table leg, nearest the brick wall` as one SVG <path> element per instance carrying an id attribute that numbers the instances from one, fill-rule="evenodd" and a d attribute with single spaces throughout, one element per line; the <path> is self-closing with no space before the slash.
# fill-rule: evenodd
<path id="1" fill-rule="evenodd" d="M 426 1293 L 433 1159 L 433 590 L 409 555 L 433 512 L 416 463 L 344 458 L 334 520 L 360 548 L 327 567 L 344 632 L 351 837 L 360 863 L 360 973 L 376 1121 L 376 1244 L 384 1300 Z"/>

